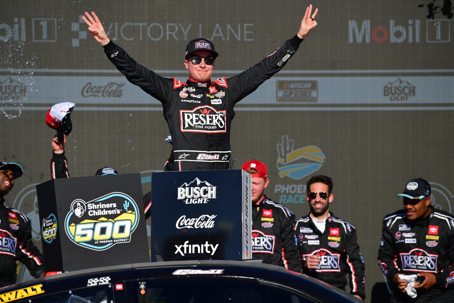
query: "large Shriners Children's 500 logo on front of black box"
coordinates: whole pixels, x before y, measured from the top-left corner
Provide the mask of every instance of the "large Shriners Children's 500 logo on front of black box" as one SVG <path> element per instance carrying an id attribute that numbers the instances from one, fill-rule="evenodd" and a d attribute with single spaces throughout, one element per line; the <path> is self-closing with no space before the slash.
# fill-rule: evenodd
<path id="1" fill-rule="evenodd" d="M 106 194 L 89 202 L 76 199 L 64 220 L 65 231 L 79 246 L 104 250 L 131 240 L 139 213 L 134 200 L 123 193 Z"/>

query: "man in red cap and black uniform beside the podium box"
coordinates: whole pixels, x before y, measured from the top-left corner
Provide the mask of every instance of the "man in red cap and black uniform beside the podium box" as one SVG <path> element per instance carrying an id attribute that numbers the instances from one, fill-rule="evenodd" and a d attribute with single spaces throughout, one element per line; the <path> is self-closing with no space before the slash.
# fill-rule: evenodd
<path id="1" fill-rule="evenodd" d="M 252 258 L 267 258 L 271 264 L 301 272 L 295 215 L 263 193 L 270 182 L 263 162 L 247 161 L 242 169 L 252 176 Z"/>

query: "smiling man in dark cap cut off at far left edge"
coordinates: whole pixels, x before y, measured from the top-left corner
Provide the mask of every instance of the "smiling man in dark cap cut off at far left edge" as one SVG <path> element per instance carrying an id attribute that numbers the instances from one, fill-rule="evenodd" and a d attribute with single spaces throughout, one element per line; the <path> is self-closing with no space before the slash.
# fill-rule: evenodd
<path id="1" fill-rule="evenodd" d="M 34 278 L 44 277 L 44 258 L 31 239 L 30 219 L 4 199 L 22 173 L 19 164 L 0 162 L 0 287 L 16 283 L 18 260 Z"/>

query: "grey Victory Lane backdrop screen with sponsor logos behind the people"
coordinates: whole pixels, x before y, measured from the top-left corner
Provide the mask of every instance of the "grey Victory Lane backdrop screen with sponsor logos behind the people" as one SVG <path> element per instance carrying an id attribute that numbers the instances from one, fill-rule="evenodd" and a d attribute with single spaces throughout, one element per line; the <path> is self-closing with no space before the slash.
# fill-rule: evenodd
<path id="1" fill-rule="evenodd" d="M 371 296 L 376 289 L 386 292 L 376 260 L 381 220 L 402 208 L 395 195 L 406 182 L 428 180 L 434 206 L 454 211 L 452 8 L 430 11 L 432 2 L 313 1 L 320 10 L 317 27 L 280 73 L 235 107 L 235 168 L 251 159 L 266 163 L 265 193 L 296 218 L 309 212 L 311 175 L 333 178 L 330 210 L 357 229 L 367 300 L 380 299 Z M 196 1 L 197 10 L 168 1 L 5 5 L 1 160 L 25 171 L 5 198 L 31 219 L 40 249 L 35 185 L 50 179 L 54 130 L 44 117 L 51 105 L 76 104 L 65 148 L 71 177 L 93 176 L 105 166 L 120 174 L 143 172 L 146 193 L 149 171 L 163 169 L 171 150 L 161 104 L 114 69 L 80 16 L 94 10 L 134 60 L 185 81 L 189 40 L 202 36 L 216 45 L 212 79 L 235 75 L 295 35 L 309 2 L 229 4 Z M 19 277 L 30 279 L 24 268 Z"/>

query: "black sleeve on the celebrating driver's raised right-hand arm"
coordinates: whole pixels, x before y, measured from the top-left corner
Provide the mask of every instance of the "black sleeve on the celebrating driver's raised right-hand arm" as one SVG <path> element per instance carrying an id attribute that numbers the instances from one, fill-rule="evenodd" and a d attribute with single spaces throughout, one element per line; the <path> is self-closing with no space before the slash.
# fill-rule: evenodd
<path id="1" fill-rule="evenodd" d="M 295 35 L 295 37 L 286 40 L 284 45 L 250 69 L 231 78 L 227 78 L 227 90 L 232 104 L 236 104 L 248 94 L 251 94 L 263 82 L 280 71 L 286 65 L 288 59 L 298 50 L 302 40 Z"/>

